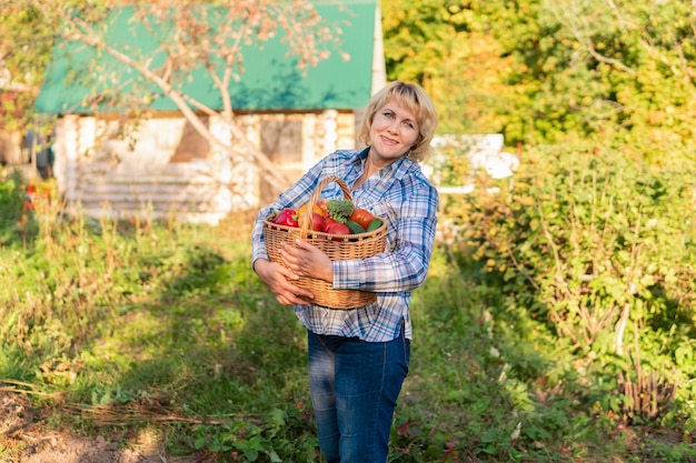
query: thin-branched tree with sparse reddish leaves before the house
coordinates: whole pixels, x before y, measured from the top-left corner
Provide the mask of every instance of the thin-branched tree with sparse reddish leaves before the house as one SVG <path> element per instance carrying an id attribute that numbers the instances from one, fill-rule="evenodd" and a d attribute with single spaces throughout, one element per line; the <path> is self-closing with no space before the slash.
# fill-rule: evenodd
<path id="1" fill-rule="evenodd" d="M 118 60 L 122 63 L 122 70 L 136 71 L 139 76 L 136 81 L 140 82 L 139 90 L 142 93 L 136 99 L 125 99 L 117 87 L 111 87 L 111 92 L 103 91 L 103 80 L 113 76 L 100 72 L 105 70 L 89 70 L 90 72 L 82 74 L 80 79 L 83 79 L 86 84 L 100 89 L 98 98 L 92 99 L 90 104 L 95 107 L 105 103 L 118 104 L 121 112 L 142 117 L 143 110 L 157 94 L 166 97 L 211 145 L 217 145 L 230 154 L 250 153 L 268 180 L 279 185 L 288 184 L 288 179 L 279 173 L 236 123 L 229 89 L 245 71 L 242 48 L 250 43 L 260 46 L 280 36 L 289 53 L 297 58 L 298 67 L 302 69 L 315 66 L 330 56 L 331 47 L 338 40 L 311 4 L 304 0 L 135 2 L 131 6 L 135 9 L 132 20 L 137 22 L 137 27 L 152 31 L 158 40 L 156 52 L 150 54 L 105 40 L 105 19 L 116 7 L 111 0 L 96 3 L 81 0 L 72 2 L 20 0 L 10 7 L 3 6 L 14 12 L 26 14 L 30 12 L 34 20 L 32 22 L 41 23 L 47 30 L 52 31 L 52 38 L 57 43 L 66 46 L 79 43 L 90 47 Z M 21 34 L 16 33 L 14 37 Z M 20 62 L 18 68 L 21 68 Z M 191 74 L 201 70 L 208 73 L 220 93 L 223 102 L 221 111 L 206 107 L 186 90 L 186 83 Z M 201 119 L 209 115 L 219 115 L 228 124 L 231 137 L 220 138 L 211 133 Z M 238 144 L 231 144 L 232 138 L 236 143 L 242 142 L 243 150 L 240 150 Z"/>

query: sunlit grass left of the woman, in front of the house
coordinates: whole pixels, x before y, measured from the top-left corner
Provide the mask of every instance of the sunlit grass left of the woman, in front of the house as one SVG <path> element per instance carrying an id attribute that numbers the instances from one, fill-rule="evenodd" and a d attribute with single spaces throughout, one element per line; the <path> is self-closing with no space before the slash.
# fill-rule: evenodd
<path id="1" fill-rule="evenodd" d="M 47 412 L 63 403 L 57 425 L 115 436 L 126 425 L 135 435 L 173 416 L 192 424 L 173 433 L 172 453 L 316 461 L 304 338 L 291 311 L 260 291 L 242 223 L 210 234 L 69 218 L 48 199 L 29 214 L 33 233 L 23 240 L 3 222 L 0 382 L 30 384 Z"/>

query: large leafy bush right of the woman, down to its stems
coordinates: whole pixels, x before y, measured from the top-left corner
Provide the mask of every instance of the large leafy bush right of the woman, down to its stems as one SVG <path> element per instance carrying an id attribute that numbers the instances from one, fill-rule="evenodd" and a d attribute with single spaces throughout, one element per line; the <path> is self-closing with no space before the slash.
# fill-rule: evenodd
<path id="1" fill-rule="evenodd" d="M 696 368 L 690 172 L 614 151 L 538 148 L 513 180 L 483 178 L 473 194 L 450 200 L 446 217 L 461 230 L 453 255 L 569 343 L 595 369 L 593 381 L 609 381 L 601 395 L 614 403 L 603 410 L 644 419 L 628 392 L 652 371 L 657 386 L 684 385 L 676 396 L 694 401 L 685 389 Z M 663 405 L 674 400 L 662 394 Z"/>

